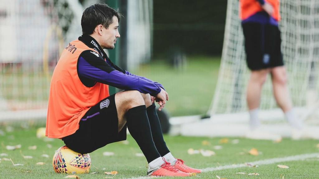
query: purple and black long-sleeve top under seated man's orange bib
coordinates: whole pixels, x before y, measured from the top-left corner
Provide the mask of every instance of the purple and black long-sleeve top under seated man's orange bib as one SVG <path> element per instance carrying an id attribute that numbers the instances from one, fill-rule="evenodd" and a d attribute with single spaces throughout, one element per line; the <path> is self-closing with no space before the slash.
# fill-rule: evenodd
<path id="1" fill-rule="evenodd" d="M 98 43 L 89 35 L 82 35 L 79 37 L 85 45 L 91 48 L 92 41 L 98 45 Z M 110 61 L 104 51 L 99 45 L 95 48 L 100 53 L 96 53 L 92 50 L 86 50 L 82 52 L 78 58 L 78 76 L 81 82 L 87 86 L 92 87 L 96 82 L 108 84 L 119 89 L 124 90 L 137 90 L 141 93 L 149 93 L 152 96 L 156 96 L 163 85 L 158 82 L 153 82 L 142 76 L 133 75 L 122 68 L 117 67 Z"/>

